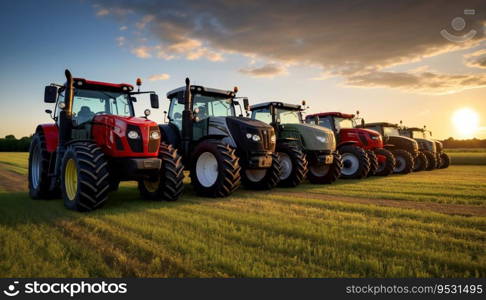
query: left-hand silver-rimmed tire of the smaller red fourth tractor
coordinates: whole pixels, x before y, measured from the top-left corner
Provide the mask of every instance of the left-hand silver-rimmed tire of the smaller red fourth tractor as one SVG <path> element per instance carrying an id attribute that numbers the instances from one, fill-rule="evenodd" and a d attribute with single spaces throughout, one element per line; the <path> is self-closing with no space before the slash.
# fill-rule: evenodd
<path id="1" fill-rule="evenodd" d="M 361 179 L 370 171 L 370 161 L 366 151 L 354 145 L 345 145 L 339 148 L 343 160 L 341 178 Z"/>

